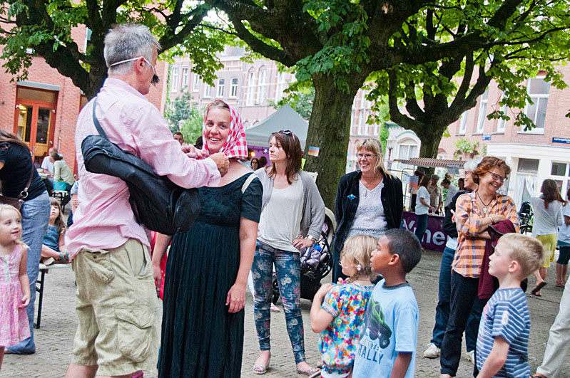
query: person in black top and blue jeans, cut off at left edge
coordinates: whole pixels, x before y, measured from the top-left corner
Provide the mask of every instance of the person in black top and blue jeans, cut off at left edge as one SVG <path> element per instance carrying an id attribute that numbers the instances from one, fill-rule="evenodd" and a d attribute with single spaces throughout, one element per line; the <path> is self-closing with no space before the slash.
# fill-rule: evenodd
<path id="1" fill-rule="evenodd" d="M 34 343 L 34 300 L 36 299 L 36 280 L 39 273 L 41 241 L 49 222 L 51 205 L 44 182 L 39 177 L 28 146 L 11 132 L 0 130 L 0 182 L 4 196 L 16 197 L 32 175 L 28 196 L 21 208 L 22 238 L 29 247 L 28 277 L 30 279 L 30 304 L 26 308 L 30 322 L 31 336 L 19 344 L 6 348 L 11 353 L 29 355 L 36 352 Z"/>

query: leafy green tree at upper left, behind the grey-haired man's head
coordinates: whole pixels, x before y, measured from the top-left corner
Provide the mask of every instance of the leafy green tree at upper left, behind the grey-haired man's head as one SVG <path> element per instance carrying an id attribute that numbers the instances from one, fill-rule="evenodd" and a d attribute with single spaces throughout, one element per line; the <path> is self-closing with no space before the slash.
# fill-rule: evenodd
<path id="1" fill-rule="evenodd" d="M 114 23 L 142 23 L 161 43 L 164 58 L 190 56 L 193 71 L 205 80 L 221 68 L 217 53 L 228 34 L 205 16 L 211 7 L 203 2 L 146 0 L 9 0 L 0 4 L 0 44 L 4 68 L 26 78 L 33 56 L 41 56 L 61 75 L 92 98 L 107 77 L 103 39 Z M 88 28 L 88 43 L 73 39 L 74 28 Z"/>

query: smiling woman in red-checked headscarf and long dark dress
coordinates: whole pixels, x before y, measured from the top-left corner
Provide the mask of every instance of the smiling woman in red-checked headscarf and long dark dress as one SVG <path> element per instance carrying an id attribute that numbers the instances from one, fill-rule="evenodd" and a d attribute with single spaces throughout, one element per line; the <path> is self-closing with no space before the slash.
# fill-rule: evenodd
<path id="1" fill-rule="evenodd" d="M 238 159 L 248 156 L 239 113 L 222 100 L 206 108 L 205 156 L 224 152 L 228 173 L 198 189 L 202 212 L 188 232 L 158 236 L 155 280 L 166 263 L 160 377 L 240 377 L 245 286 L 255 253 L 263 188 Z M 253 176 L 252 176 L 253 175 Z"/>

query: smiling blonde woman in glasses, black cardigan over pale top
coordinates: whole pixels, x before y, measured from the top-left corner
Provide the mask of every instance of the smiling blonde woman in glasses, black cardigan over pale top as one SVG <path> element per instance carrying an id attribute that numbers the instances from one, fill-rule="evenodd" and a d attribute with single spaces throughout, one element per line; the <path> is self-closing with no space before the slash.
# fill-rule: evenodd
<path id="1" fill-rule="evenodd" d="M 356 147 L 360 171 L 340 177 L 335 216 L 337 234 L 332 254 L 332 282 L 342 274 L 340 251 L 345 240 L 365 234 L 380 238 L 388 229 L 398 229 L 404 209 L 402 182 L 382 162 L 380 141 L 369 138 Z"/>

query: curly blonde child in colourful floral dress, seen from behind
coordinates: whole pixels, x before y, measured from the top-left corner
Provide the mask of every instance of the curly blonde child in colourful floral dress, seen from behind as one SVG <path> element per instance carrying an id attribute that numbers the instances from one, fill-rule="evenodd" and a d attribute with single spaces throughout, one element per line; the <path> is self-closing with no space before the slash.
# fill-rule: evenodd
<path id="1" fill-rule="evenodd" d="M 342 273 L 349 278 L 342 285 L 326 283 L 315 294 L 311 307 L 312 332 L 320 333 L 321 377 L 349 377 L 355 360 L 368 299 L 375 278 L 370 256 L 377 239 L 368 235 L 348 238 L 340 253 Z"/>

